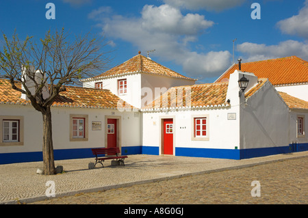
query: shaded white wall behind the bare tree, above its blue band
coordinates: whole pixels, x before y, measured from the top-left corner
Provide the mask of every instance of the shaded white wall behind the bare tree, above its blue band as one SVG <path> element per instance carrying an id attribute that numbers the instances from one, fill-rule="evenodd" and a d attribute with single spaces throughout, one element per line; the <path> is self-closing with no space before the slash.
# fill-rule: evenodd
<path id="1" fill-rule="evenodd" d="M 52 107 L 53 148 L 94 148 L 105 146 L 105 116 L 120 116 L 121 145 L 141 146 L 139 112 L 111 109 Z M 70 141 L 70 114 L 88 115 L 88 141 Z M 24 145 L 0 146 L 0 153 L 42 151 L 42 115 L 31 106 L 0 105 L 0 115 L 24 118 Z M 92 121 L 101 121 L 101 131 L 92 131 Z M 2 134 L 2 133 L 1 133 Z"/>

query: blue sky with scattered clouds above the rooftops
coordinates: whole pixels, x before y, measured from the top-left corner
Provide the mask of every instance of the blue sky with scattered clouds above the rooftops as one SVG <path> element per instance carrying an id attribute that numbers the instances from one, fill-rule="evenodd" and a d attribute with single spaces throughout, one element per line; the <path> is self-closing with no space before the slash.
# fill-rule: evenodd
<path id="1" fill-rule="evenodd" d="M 45 16 L 55 5 L 55 19 Z M 259 3 L 261 19 L 251 18 Z M 116 66 L 141 51 L 198 83 L 215 81 L 235 61 L 296 55 L 308 60 L 308 0 L 0 1 L 0 31 L 42 38 L 49 29 L 103 34 Z M 2 38 L 0 39 L 2 40 Z M 2 47 L 2 46 L 1 46 Z"/>

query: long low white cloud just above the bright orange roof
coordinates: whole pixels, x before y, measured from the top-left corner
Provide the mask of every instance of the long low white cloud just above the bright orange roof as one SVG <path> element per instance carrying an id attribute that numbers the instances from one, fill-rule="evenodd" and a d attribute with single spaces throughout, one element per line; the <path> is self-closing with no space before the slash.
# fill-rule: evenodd
<path id="1" fill-rule="evenodd" d="M 255 62 L 264 59 L 273 59 L 279 57 L 297 57 L 308 59 L 308 44 L 295 40 L 287 40 L 277 45 L 255 44 L 244 42 L 237 46 L 237 50 L 244 53 L 243 62 Z"/>

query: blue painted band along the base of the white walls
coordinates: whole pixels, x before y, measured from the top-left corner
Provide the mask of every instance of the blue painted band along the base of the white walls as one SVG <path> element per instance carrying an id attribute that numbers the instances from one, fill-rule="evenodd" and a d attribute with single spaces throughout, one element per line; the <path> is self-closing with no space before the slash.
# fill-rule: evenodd
<path id="1" fill-rule="evenodd" d="M 258 156 L 286 154 L 308 150 L 308 143 L 290 144 L 283 147 L 251 149 L 215 149 L 215 148 L 175 148 L 176 156 L 194 156 L 219 159 L 249 159 Z M 159 155 L 159 148 L 153 146 L 122 147 L 122 154 Z M 82 159 L 94 157 L 90 148 L 54 150 L 55 161 L 63 159 Z M 19 152 L 0 154 L 0 164 L 42 161 L 42 152 Z"/>

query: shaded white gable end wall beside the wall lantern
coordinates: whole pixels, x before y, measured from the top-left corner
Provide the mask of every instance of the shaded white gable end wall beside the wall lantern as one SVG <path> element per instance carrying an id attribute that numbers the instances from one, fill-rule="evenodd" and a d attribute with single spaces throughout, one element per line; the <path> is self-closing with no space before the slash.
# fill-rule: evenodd
<path id="1" fill-rule="evenodd" d="M 289 135 L 288 107 L 267 82 L 240 107 L 240 148 L 288 146 Z"/>

